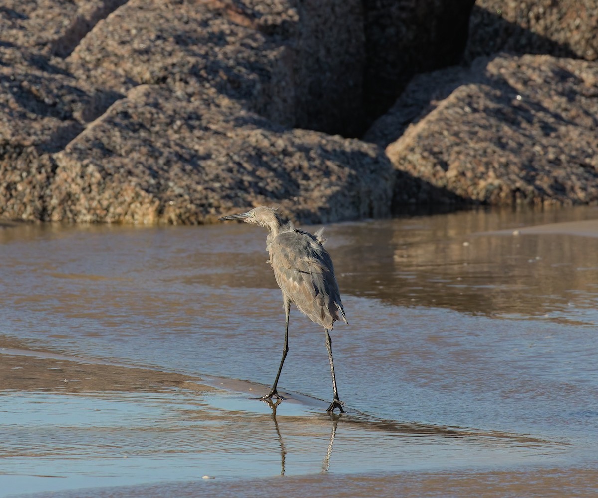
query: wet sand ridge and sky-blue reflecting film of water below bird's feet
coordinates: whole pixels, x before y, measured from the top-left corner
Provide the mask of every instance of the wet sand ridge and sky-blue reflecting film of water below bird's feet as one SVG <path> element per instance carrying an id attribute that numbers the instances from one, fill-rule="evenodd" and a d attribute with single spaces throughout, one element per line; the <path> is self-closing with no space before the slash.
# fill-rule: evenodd
<path id="1" fill-rule="evenodd" d="M 323 482 L 315 475 L 328 474 L 332 464 L 333 473 L 347 474 L 338 483 L 341 488 L 362 490 L 352 496 L 372 496 L 381 485 L 390 496 L 395 479 L 376 473 L 402 467 L 402 481 L 422 470 L 422 456 L 424 469 L 512 467 L 540 463 L 549 455 L 559 460 L 567 447 L 529 435 L 399 423 L 350 408 L 329 417 L 326 402 L 300 393 L 281 390 L 285 399 L 277 403 L 252 399 L 263 386 L 246 381 L 199 379 L 14 348 L 3 347 L 1 353 L 0 381 L 11 386 L 2 396 L 3 438 L 11 441 L 1 454 L 5 490 L 43 490 L 42 495 L 60 490 L 56 496 L 69 496 L 65 490 L 72 487 L 77 489 L 71 496 L 248 496 L 245 485 L 236 482 L 240 477 L 259 488 L 264 482 L 255 476 L 303 475 L 289 490 L 300 496 L 316 493 Z M 458 462 L 450 460 L 455 454 Z M 467 488 L 467 476 L 460 478 Z M 211 488 L 188 482 L 196 479 L 222 482 Z M 126 486 L 140 481 L 175 482 Z M 97 488 L 114 484 L 122 487 Z M 411 485 L 415 492 L 426 484 Z M 94 488 L 81 490 L 89 486 Z M 325 488 L 331 491 L 334 485 Z"/>

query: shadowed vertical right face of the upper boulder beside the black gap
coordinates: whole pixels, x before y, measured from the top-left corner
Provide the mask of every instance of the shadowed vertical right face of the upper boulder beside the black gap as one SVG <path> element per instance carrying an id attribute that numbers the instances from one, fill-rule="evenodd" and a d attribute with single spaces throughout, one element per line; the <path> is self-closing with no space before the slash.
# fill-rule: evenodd
<path id="1" fill-rule="evenodd" d="M 254 0 L 257 4 L 263 0 Z M 297 1 L 294 126 L 358 136 L 366 62 L 361 0 Z"/>

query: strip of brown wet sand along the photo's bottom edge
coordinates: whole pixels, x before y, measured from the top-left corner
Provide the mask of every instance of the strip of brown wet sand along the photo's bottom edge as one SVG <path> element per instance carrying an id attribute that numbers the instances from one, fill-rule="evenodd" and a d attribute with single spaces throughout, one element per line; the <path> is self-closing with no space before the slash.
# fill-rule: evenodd
<path id="1" fill-rule="evenodd" d="M 547 468 L 507 472 L 402 472 L 396 475 L 309 475 L 226 481 L 201 479 L 106 489 L 48 493 L 48 498 L 161 498 L 164 496 L 258 497 L 264 487 L 289 498 L 304 496 L 354 497 L 471 497 L 497 496 L 595 497 L 598 470 L 591 468 Z M 346 490 L 351 490 L 347 494 Z M 356 491 L 357 490 L 357 491 Z"/>

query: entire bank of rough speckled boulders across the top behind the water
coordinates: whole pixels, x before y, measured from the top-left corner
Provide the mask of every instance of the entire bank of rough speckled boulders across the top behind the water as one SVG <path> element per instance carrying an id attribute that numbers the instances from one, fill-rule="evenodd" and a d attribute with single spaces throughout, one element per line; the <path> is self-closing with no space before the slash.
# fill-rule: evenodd
<path id="1" fill-rule="evenodd" d="M 470 22 L 471 8 L 6 0 L 0 216 L 203 223 L 279 204 L 316 222 L 393 202 L 595 202 L 595 2 L 478 0 Z M 587 62 L 475 59 L 499 48 Z M 343 138 L 381 113 L 366 141 Z"/>

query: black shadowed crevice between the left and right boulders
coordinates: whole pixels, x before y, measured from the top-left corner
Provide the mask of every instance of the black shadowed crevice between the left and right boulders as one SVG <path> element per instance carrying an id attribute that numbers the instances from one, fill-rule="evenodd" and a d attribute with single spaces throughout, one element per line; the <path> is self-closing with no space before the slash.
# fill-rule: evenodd
<path id="1" fill-rule="evenodd" d="M 508 51 L 580 58 L 568 44 L 508 22 L 500 14 L 474 5 L 473 0 L 436 3 L 437 8 L 431 10 L 430 2 L 362 0 L 365 63 L 361 113 L 352 113 L 351 131 L 342 117 L 322 131 L 362 138 L 373 122 L 395 104 L 415 75 L 449 66 L 466 68 L 479 56 Z M 439 80 L 438 86 L 444 86 L 444 81 Z M 313 107 L 317 105 L 313 102 Z M 415 114 L 417 119 L 419 113 Z"/>

